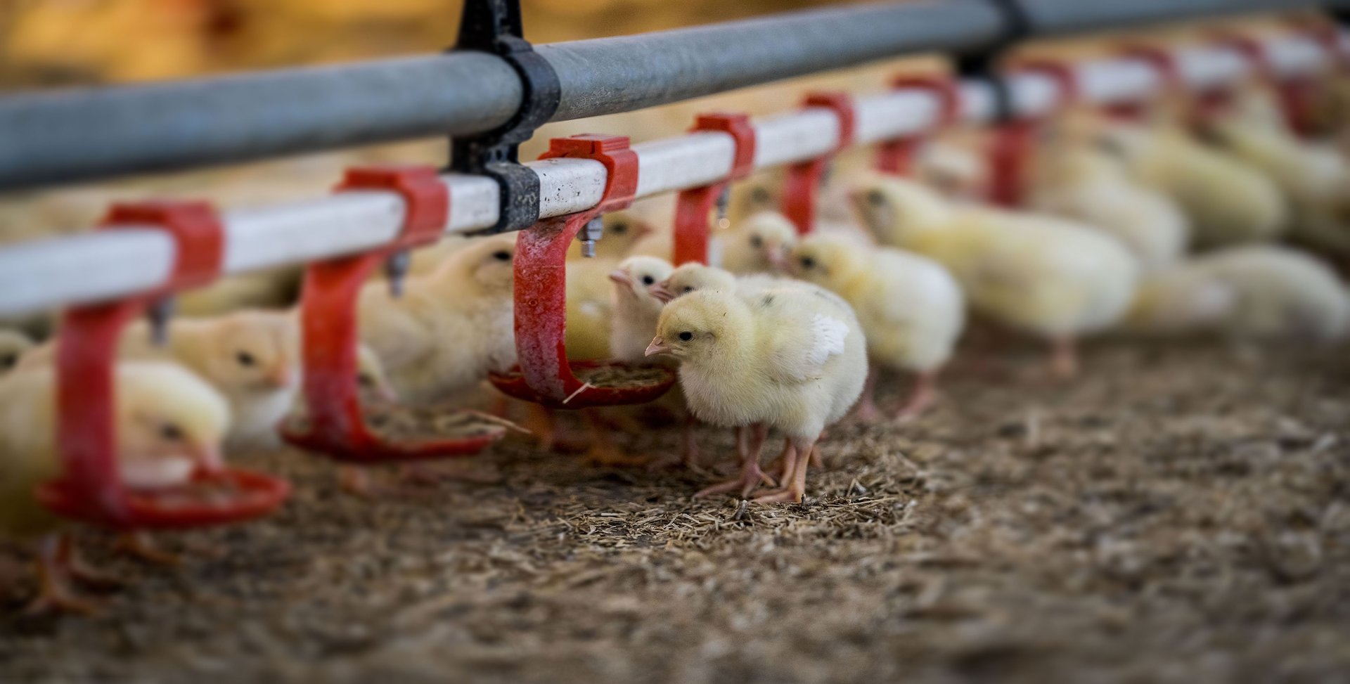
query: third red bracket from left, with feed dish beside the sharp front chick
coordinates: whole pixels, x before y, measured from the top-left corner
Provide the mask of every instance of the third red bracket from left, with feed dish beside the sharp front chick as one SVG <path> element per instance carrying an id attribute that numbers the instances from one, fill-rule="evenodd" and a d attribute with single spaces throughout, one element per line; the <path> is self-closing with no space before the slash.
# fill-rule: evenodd
<path id="1" fill-rule="evenodd" d="M 544 219 L 516 237 L 516 356 L 520 366 L 491 375 L 493 384 L 517 399 L 554 409 L 587 409 L 649 402 L 675 383 L 666 371 L 659 382 L 610 387 L 583 383 L 578 370 L 621 368 L 622 364 L 568 362 L 567 247 L 576 233 L 605 212 L 624 209 L 637 192 L 637 152 L 622 135 L 574 135 L 549 140 L 540 159 L 594 159 L 605 165 L 605 194 L 591 209 Z"/>

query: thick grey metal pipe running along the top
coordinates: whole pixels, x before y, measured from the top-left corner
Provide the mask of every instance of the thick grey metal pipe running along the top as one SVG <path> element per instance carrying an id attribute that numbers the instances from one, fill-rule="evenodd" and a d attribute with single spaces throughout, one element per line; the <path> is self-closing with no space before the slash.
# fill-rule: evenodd
<path id="1" fill-rule="evenodd" d="M 1347 0 L 1335 0 L 1345 3 Z M 1025 0 L 1035 32 L 1068 32 L 1311 0 Z M 930 50 L 998 40 L 980 0 L 922 0 L 792 12 L 624 38 L 540 46 L 558 70 L 554 120 L 626 112 Z M 146 86 L 0 98 L 0 189 L 188 169 L 504 123 L 514 73 L 460 53 L 288 69 Z"/>

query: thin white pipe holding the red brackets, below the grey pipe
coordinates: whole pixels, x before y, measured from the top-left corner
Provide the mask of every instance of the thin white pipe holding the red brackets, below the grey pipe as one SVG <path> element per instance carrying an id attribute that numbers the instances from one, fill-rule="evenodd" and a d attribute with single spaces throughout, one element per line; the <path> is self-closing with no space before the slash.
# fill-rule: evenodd
<path id="1" fill-rule="evenodd" d="M 1320 69 L 1327 55 L 1305 38 L 1265 45 L 1277 74 Z M 1242 78 L 1246 59 L 1226 49 L 1177 53 L 1181 76 L 1192 89 Z M 1076 66 L 1081 94 L 1094 103 L 1129 101 L 1161 88 L 1158 74 L 1134 59 L 1083 62 Z M 1013 78 L 1014 105 L 1041 113 L 1056 105 L 1057 84 L 1048 76 Z M 964 117 L 986 121 L 994 92 L 984 82 L 961 84 Z M 940 104 L 922 90 L 896 90 L 855 101 L 855 144 L 922 132 L 937 121 Z M 830 109 L 806 108 L 755 121 L 755 167 L 768 169 L 819 156 L 834 148 L 838 117 Z M 637 197 L 698 188 L 725 178 L 734 142 L 721 132 L 698 132 L 634 144 L 639 154 Z M 563 216 L 599 202 L 605 167 L 589 159 L 548 159 L 528 165 L 540 178 L 540 216 Z M 497 223 L 497 185 L 489 178 L 446 174 L 451 212 L 447 233 L 470 232 Z M 387 244 L 404 220 L 404 201 L 394 193 L 352 192 L 265 209 L 225 212 L 224 273 L 342 256 Z M 35 240 L 0 250 L 0 316 L 69 304 L 115 300 L 162 285 L 173 263 L 171 240 L 153 228 L 93 232 Z"/>

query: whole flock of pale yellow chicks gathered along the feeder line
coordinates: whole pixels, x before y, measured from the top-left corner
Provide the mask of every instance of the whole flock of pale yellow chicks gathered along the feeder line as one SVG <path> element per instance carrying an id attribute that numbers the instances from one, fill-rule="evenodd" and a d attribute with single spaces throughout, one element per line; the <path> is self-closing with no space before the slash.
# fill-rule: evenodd
<path id="1" fill-rule="evenodd" d="M 674 266 L 671 231 L 640 208 L 606 217 L 597 256 L 567 260 L 570 356 L 678 366 L 678 391 L 662 401 L 688 418 L 684 460 L 691 424 L 737 433 L 738 475 L 698 495 L 768 486 L 756 501 L 774 503 L 802 501 L 830 425 L 886 417 L 879 370 L 917 379 L 890 418 L 930 406 L 972 316 L 1045 340 L 1060 376 L 1076 370 L 1076 340 L 1108 331 L 1334 340 L 1350 329 L 1335 271 L 1274 243 L 1335 251 L 1350 239 L 1350 163 L 1289 132 L 1265 89 L 1242 89 L 1202 128 L 1168 108 L 1141 120 L 1068 113 L 1042 132 L 1019 209 L 979 201 L 981 135 L 932 140 L 911 177 L 834 174 L 807 235 L 771 208 L 767 185 L 738 188 L 711 264 Z M 369 283 L 366 401 L 482 401 L 489 374 L 516 364 L 514 256 L 513 235 L 447 237 L 413 255 L 401 295 Z M 122 340 L 116 451 L 131 488 L 279 447 L 275 426 L 301 401 L 294 310 L 178 318 L 167 333 L 157 345 L 136 324 Z M 36 606 L 80 607 L 66 581 L 86 568 L 34 496 L 61 468 L 53 344 L 0 333 L 0 533 L 40 540 Z M 591 456 L 633 461 L 605 438 L 608 418 L 590 417 Z M 551 444 L 552 416 L 533 407 L 531 422 Z M 771 429 L 784 447 L 765 471 Z M 143 537 L 127 546 L 155 553 Z"/>

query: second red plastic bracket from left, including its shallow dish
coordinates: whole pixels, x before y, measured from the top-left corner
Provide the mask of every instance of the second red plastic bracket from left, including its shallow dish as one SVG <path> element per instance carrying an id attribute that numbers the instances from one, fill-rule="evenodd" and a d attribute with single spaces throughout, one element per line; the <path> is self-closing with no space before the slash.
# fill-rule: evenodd
<path id="1" fill-rule="evenodd" d="M 315 262 L 305 270 L 300 301 L 304 356 L 304 418 L 288 420 L 282 437 L 339 461 L 377 464 L 467 456 L 505 434 L 392 441 L 366 426 L 358 387 L 356 347 L 360 290 L 381 263 L 440 237 L 450 216 L 450 192 L 432 166 L 369 166 L 347 170 L 338 192 L 385 190 L 404 197 L 404 225 L 378 250 Z"/>

